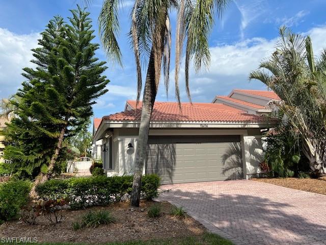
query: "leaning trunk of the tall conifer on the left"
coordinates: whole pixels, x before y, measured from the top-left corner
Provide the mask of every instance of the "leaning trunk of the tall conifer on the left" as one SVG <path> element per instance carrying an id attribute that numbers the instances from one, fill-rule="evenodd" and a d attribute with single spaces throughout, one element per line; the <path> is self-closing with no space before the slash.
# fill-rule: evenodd
<path id="1" fill-rule="evenodd" d="M 58 139 L 58 144 L 57 144 L 55 153 L 51 157 L 50 164 L 47 168 L 47 173 L 44 174 L 44 173 L 40 172 L 33 183 L 32 189 L 30 191 L 30 197 L 33 199 L 37 198 L 37 193 L 35 191 L 36 186 L 47 181 L 49 179 L 49 177 L 52 175 L 53 168 L 55 167 L 56 161 L 58 159 L 58 156 L 59 156 L 59 153 L 60 153 L 60 150 L 62 147 L 62 142 L 63 142 L 64 135 L 66 133 L 66 130 L 67 130 L 67 126 L 65 126 L 64 128 L 61 129 L 60 136 Z"/>

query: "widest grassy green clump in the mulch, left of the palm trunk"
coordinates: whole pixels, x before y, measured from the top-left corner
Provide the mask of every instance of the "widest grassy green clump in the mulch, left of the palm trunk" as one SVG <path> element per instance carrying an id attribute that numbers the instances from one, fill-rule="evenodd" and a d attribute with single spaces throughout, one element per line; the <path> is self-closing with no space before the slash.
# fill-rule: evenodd
<path id="1" fill-rule="evenodd" d="M 80 227 L 98 227 L 99 225 L 107 225 L 114 223 L 115 217 L 107 210 L 89 211 L 82 217 L 82 224 Z"/>

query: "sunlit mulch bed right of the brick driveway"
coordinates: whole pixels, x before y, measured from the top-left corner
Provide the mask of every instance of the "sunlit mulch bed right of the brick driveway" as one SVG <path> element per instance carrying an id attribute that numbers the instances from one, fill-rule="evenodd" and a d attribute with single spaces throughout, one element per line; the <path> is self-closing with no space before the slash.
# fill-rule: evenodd
<path id="1" fill-rule="evenodd" d="M 326 195 L 325 177 L 318 178 L 318 179 L 297 179 L 297 178 L 256 179 L 254 178 L 252 180 Z"/>

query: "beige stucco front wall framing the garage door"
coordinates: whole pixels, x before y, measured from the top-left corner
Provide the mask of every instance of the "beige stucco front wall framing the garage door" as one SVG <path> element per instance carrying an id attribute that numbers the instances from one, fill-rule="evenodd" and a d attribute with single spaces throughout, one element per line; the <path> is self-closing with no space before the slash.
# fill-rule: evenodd
<path id="1" fill-rule="evenodd" d="M 114 173 L 119 175 L 132 173 L 137 134 L 138 130 L 135 129 L 114 131 Z M 258 167 L 262 159 L 260 129 L 151 129 L 149 135 L 240 135 L 244 178 L 247 179 L 250 174 L 259 172 Z M 129 143 L 133 145 L 133 148 L 128 148 Z"/>

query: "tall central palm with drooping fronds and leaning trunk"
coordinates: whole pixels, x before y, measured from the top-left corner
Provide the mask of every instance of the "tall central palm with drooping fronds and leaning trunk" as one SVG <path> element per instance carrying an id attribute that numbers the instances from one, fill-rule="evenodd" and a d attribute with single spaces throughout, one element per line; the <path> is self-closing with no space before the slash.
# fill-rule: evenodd
<path id="1" fill-rule="evenodd" d="M 88 2 L 88 1 L 86 1 Z M 121 0 L 104 0 L 98 18 L 100 39 L 108 57 L 119 64 L 120 47 L 117 42 L 119 30 L 118 9 Z M 208 67 L 210 53 L 209 33 L 214 23 L 214 15 L 221 15 L 229 0 L 135 0 L 131 11 L 130 37 L 137 66 L 137 102 L 142 91 L 142 64 L 147 66 L 141 124 L 135 156 L 131 205 L 139 206 L 140 183 L 146 154 L 150 117 L 152 114 L 161 69 L 164 73 L 166 92 L 169 87 L 171 24 L 169 11 L 177 10 L 176 50 L 175 50 L 175 94 L 179 102 L 178 75 L 181 58 L 185 57 L 185 87 L 189 100 L 189 63 L 193 61 L 196 71 Z M 185 46 L 185 52 L 183 52 Z"/>

